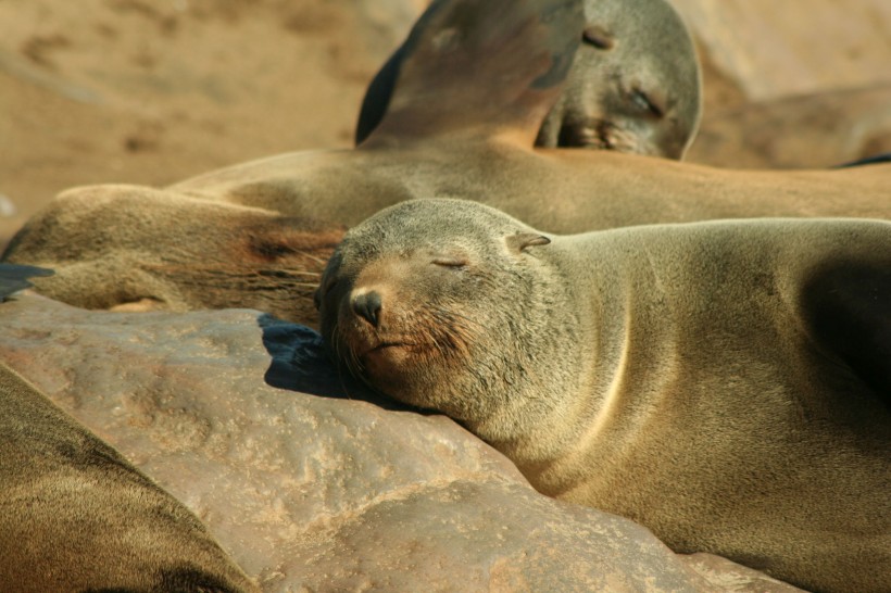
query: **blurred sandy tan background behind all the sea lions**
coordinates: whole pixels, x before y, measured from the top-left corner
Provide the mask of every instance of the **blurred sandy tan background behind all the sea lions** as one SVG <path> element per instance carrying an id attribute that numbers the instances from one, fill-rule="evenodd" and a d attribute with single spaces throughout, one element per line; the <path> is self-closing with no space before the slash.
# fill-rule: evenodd
<path id="1" fill-rule="evenodd" d="M 674 3 L 706 74 L 689 160 L 826 166 L 891 151 L 891 1 Z M 163 186 L 349 147 L 367 81 L 425 5 L 0 0 L 0 247 L 73 186 Z"/>

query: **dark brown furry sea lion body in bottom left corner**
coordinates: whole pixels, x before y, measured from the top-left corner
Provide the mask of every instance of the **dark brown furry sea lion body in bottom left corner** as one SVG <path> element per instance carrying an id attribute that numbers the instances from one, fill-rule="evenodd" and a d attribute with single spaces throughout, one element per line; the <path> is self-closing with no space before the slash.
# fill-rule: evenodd
<path id="1" fill-rule="evenodd" d="M 259 591 L 183 504 L 0 365 L 0 590 Z"/>

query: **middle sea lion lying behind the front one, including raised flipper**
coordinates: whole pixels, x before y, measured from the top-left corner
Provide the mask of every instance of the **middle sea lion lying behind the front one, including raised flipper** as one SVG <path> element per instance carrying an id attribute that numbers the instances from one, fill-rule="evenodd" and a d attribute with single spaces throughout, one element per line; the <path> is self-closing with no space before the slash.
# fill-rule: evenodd
<path id="1" fill-rule="evenodd" d="M 553 232 L 708 218 L 891 218 L 888 164 L 743 172 L 534 149 L 583 26 L 575 0 L 435 2 L 412 33 L 384 119 L 357 149 L 283 154 L 165 190 L 70 190 L 25 225 L 3 258 L 55 269 L 37 290 L 78 306 L 259 306 L 263 293 L 263 311 L 314 325 L 308 312 L 329 239 L 412 198 L 473 198 Z M 240 216 L 278 222 L 246 234 Z M 264 245 L 262 261 L 246 250 L 252 243 Z M 190 277 L 192 263 L 206 269 Z"/>

